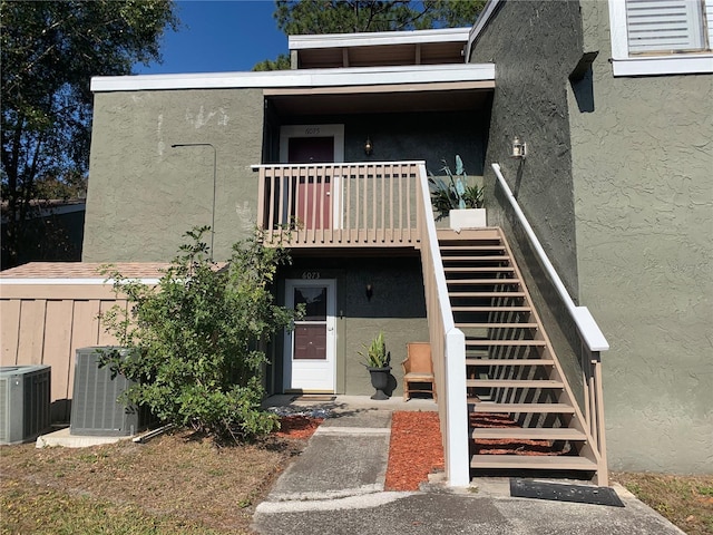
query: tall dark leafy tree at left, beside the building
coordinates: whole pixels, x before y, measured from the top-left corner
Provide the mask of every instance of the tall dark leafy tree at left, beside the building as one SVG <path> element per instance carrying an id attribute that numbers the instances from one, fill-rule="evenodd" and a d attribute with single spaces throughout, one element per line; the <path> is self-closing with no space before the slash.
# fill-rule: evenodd
<path id="1" fill-rule="evenodd" d="M 90 77 L 160 61 L 160 38 L 177 27 L 170 0 L 0 2 L 2 246 L 11 265 L 38 181 L 86 177 Z"/>

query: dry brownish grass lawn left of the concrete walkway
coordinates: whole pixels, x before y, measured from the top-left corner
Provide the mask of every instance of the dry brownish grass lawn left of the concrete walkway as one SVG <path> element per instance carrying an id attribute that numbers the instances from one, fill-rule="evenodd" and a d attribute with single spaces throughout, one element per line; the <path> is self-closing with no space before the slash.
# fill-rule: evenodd
<path id="1" fill-rule="evenodd" d="M 144 445 L 2 446 L 0 533 L 250 533 L 254 506 L 304 444 L 218 448 L 180 431 Z"/>

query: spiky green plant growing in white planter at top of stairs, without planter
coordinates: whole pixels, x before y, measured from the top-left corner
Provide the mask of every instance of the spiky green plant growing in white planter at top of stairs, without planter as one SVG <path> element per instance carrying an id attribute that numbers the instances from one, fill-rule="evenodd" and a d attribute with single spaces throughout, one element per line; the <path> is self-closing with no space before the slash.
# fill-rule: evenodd
<path id="1" fill-rule="evenodd" d="M 477 184 L 468 184 L 468 175 L 463 162 L 456 155 L 456 172 L 451 172 L 446 159 L 441 160 L 443 167 L 439 171 L 446 173 L 447 179 L 433 176 L 429 172 L 429 186 L 431 189 L 431 204 L 438 212 L 437 221 L 442 220 L 451 210 L 481 208 L 482 187 Z"/>

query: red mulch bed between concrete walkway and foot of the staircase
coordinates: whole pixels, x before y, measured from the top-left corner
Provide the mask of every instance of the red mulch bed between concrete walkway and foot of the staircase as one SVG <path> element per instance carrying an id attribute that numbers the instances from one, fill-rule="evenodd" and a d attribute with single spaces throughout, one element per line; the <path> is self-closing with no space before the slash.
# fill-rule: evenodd
<path id="1" fill-rule="evenodd" d="M 429 474 L 442 469 L 438 412 L 393 412 L 385 489 L 418 490 Z"/>

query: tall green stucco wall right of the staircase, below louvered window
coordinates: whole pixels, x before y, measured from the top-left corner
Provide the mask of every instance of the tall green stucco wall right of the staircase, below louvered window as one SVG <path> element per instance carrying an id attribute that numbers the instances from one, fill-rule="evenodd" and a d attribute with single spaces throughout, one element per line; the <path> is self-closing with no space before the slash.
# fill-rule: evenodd
<path id="1" fill-rule="evenodd" d="M 607 337 L 609 466 L 711 473 L 713 76 L 615 79 L 604 1 L 501 6 L 470 58 L 496 61 L 486 184 L 500 163 L 573 298 Z M 527 47 L 512 46 L 516 35 Z M 598 56 L 570 82 L 584 52 Z M 508 157 L 515 135 L 528 143 L 525 162 Z M 519 237 L 501 203 L 490 194 L 490 223 Z M 548 329 L 557 323 L 558 353 L 574 347 L 520 239 L 516 250 Z"/>

